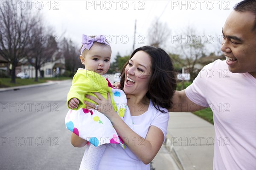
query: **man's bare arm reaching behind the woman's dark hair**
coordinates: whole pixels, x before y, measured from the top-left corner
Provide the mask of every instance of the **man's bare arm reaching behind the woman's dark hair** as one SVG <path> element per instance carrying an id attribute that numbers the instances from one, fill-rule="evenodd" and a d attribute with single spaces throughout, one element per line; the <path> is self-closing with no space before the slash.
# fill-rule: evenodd
<path id="1" fill-rule="evenodd" d="M 185 89 L 182 91 L 175 91 L 174 96 L 172 97 L 172 109 L 169 109 L 169 112 L 195 112 L 206 107 L 201 106 L 200 104 L 195 104 L 186 96 Z"/>

